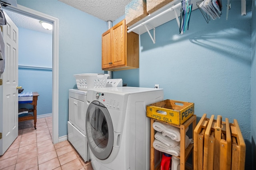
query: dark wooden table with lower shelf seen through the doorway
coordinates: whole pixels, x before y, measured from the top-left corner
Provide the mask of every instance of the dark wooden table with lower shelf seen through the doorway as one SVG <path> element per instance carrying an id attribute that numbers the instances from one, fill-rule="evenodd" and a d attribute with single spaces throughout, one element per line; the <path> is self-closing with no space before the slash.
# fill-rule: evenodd
<path id="1" fill-rule="evenodd" d="M 38 92 L 33 92 L 32 103 L 27 103 L 27 104 L 33 105 L 33 109 L 30 109 L 28 111 L 28 112 L 32 112 L 33 111 L 33 115 L 28 114 L 27 116 L 19 117 L 19 122 L 20 121 L 27 121 L 27 120 L 34 119 L 34 128 L 35 129 L 36 129 L 36 106 L 37 106 L 37 98 L 38 98 L 38 96 L 39 96 Z"/>

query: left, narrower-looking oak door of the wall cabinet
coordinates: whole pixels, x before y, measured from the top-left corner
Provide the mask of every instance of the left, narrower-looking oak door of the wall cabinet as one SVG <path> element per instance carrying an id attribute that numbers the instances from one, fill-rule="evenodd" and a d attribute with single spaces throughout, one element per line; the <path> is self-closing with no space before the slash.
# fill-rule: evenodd
<path id="1" fill-rule="evenodd" d="M 111 29 L 102 34 L 102 69 L 112 66 L 111 63 Z"/>

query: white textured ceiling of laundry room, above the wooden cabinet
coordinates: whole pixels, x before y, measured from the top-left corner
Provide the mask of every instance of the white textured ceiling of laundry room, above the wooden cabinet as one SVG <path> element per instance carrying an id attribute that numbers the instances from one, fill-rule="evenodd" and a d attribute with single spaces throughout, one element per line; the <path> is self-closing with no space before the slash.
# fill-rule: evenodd
<path id="1" fill-rule="evenodd" d="M 132 0 L 59 0 L 104 21 L 114 21 L 125 14 Z"/>

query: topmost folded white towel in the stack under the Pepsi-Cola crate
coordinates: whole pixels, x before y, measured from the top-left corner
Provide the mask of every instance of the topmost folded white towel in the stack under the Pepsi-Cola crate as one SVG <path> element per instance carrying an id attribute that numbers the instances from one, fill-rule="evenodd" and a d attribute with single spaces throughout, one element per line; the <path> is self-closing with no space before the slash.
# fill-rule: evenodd
<path id="1" fill-rule="evenodd" d="M 153 128 L 158 132 L 162 132 L 163 136 L 168 136 L 172 140 L 177 142 L 180 141 L 180 129 L 178 127 L 173 127 L 172 125 L 155 121 L 153 123 Z M 188 127 L 186 128 L 186 132 L 187 131 L 188 131 Z"/>

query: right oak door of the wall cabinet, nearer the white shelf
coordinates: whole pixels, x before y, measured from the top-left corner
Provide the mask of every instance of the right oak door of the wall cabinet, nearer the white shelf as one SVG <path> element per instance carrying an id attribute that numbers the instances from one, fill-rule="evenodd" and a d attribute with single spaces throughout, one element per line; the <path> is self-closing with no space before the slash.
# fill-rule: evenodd
<path id="1" fill-rule="evenodd" d="M 125 20 L 112 27 L 112 66 L 122 66 L 126 64 L 125 27 Z"/>

